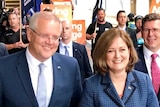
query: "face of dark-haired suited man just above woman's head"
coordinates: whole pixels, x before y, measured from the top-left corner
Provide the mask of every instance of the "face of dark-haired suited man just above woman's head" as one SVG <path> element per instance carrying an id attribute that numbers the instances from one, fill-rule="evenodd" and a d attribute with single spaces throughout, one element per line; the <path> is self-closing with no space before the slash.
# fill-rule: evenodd
<path id="1" fill-rule="evenodd" d="M 119 15 L 117 17 L 117 21 L 118 21 L 119 26 L 125 26 L 126 22 L 127 22 L 126 13 L 124 13 L 124 12 L 119 13 Z"/>

